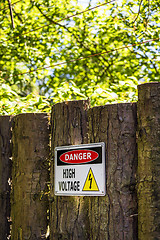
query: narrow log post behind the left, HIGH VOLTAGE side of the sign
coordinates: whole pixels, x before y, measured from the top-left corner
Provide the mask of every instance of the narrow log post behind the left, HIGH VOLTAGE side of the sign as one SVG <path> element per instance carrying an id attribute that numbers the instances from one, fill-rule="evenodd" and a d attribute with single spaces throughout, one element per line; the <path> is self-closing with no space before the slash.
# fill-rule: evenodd
<path id="1" fill-rule="evenodd" d="M 50 239 L 88 240 L 87 198 L 54 196 L 54 148 L 87 143 L 88 101 L 59 103 L 52 109 Z"/>

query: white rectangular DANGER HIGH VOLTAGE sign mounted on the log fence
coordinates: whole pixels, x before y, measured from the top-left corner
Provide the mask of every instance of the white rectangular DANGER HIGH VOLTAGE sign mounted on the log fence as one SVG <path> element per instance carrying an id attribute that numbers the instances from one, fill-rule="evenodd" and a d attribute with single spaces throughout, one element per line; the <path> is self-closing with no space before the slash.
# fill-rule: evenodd
<path id="1" fill-rule="evenodd" d="M 55 148 L 55 195 L 106 194 L 105 143 Z"/>

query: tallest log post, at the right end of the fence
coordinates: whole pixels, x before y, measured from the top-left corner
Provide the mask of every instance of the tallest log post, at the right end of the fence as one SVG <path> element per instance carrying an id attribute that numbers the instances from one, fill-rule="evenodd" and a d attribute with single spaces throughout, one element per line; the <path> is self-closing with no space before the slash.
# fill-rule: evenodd
<path id="1" fill-rule="evenodd" d="M 160 83 L 138 87 L 138 239 L 160 239 Z"/>

